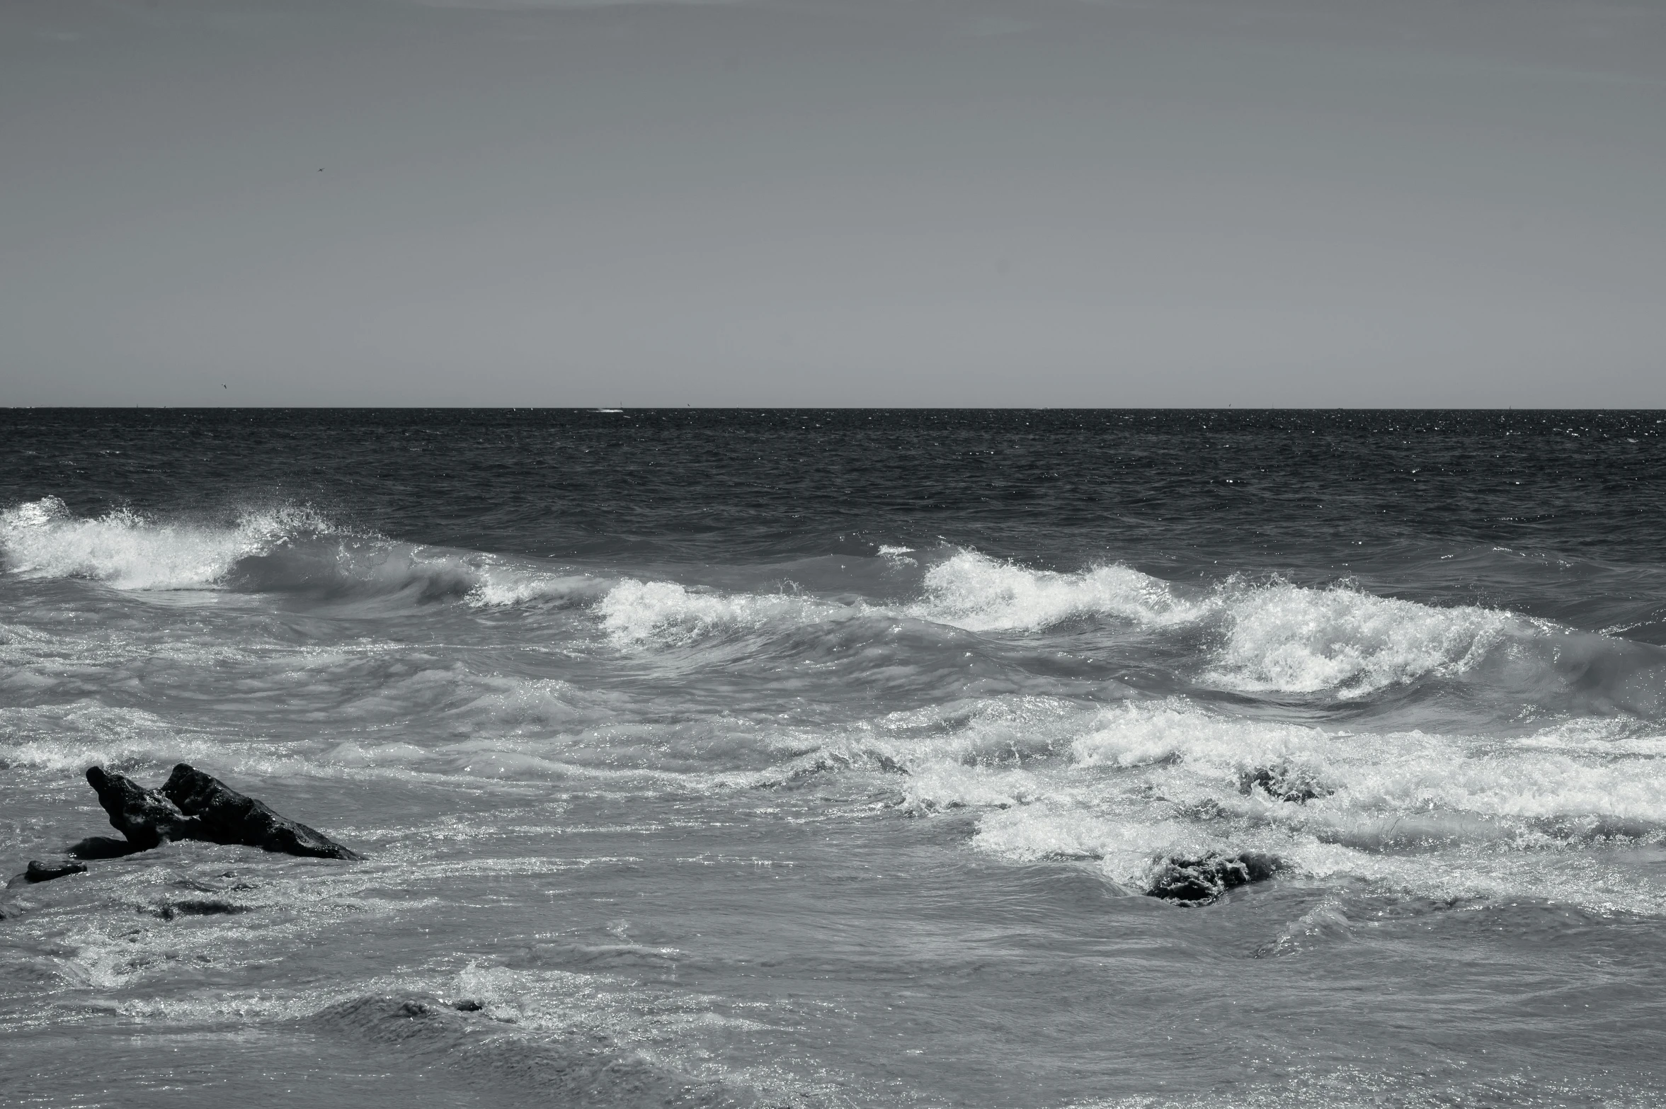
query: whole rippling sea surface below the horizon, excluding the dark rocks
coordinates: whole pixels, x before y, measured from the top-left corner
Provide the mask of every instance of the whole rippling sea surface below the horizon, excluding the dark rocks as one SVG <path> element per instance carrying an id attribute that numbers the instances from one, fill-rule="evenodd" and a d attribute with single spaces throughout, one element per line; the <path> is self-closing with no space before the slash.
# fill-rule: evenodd
<path id="1" fill-rule="evenodd" d="M 1663 1106 L 1663 420 L 0 411 L 0 1104 Z"/>

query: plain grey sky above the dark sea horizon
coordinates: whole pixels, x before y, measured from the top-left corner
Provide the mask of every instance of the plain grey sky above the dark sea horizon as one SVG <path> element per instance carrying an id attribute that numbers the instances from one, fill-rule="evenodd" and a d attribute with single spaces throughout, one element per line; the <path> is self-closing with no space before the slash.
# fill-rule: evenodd
<path id="1" fill-rule="evenodd" d="M 1666 406 L 1666 5 L 0 0 L 0 403 Z"/>

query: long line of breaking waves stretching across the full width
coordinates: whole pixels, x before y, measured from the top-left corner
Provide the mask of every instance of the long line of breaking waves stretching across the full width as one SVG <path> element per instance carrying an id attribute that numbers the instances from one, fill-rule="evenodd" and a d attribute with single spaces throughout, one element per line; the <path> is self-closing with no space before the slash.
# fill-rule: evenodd
<path id="1" fill-rule="evenodd" d="M 1474 679 L 1528 699 L 1576 693 L 1591 711 L 1666 709 L 1659 648 L 1504 609 L 1441 608 L 1278 579 L 1233 578 L 1195 588 L 1115 563 L 1061 573 L 960 550 L 925 569 L 916 599 L 885 604 L 560 571 L 533 559 L 353 533 L 310 508 L 250 510 L 228 526 L 205 526 L 132 510 L 77 518 L 57 498 L 0 513 L 0 558 L 25 578 L 83 578 L 127 591 L 230 589 L 325 601 L 398 596 L 476 608 L 576 604 L 598 618 L 615 644 L 646 648 L 798 631 L 855 616 L 985 636 L 1108 621 L 1141 636 L 1190 638 L 1185 649 L 1196 658 L 1190 679 L 1233 693 L 1349 701 L 1424 679 Z M 898 554 L 885 548 L 880 558 L 893 563 Z"/>

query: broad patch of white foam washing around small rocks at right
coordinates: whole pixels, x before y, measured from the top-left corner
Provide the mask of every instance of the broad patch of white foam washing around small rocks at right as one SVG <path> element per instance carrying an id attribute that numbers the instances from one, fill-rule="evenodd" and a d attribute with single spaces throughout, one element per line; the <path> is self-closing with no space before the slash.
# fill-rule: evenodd
<path id="1" fill-rule="evenodd" d="M 1593 851 L 1666 841 L 1666 761 L 1636 723 L 1519 739 L 1346 733 L 1171 699 L 1083 713 L 1075 726 L 1068 761 L 1035 763 L 1021 779 L 916 769 L 915 811 L 985 808 L 980 849 L 1091 858 L 1135 888 L 1158 854 L 1256 849 L 1298 878 L 1351 876 L 1416 896 L 1666 911 L 1666 889 Z M 1269 764 L 1299 768 L 1323 796 L 1245 793 L 1245 771 Z"/>

